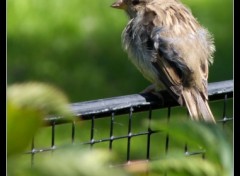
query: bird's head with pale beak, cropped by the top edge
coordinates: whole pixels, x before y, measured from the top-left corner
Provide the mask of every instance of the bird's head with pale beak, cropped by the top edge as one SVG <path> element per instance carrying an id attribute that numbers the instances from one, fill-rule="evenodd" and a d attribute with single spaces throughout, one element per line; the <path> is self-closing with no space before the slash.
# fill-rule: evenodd
<path id="1" fill-rule="evenodd" d="M 117 0 L 111 7 L 122 9 L 127 12 L 130 18 L 136 16 L 137 11 L 143 9 L 149 0 Z"/>

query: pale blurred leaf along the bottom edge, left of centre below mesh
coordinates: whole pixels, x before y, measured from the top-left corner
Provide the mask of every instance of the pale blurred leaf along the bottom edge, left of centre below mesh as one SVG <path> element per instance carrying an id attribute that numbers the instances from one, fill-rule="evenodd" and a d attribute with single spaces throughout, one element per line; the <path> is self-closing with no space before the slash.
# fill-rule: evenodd
<path id="1" fill-rule="evenodd" d="M 67 147 L 52 155 L 44 155 L 33 168 L 29 164 L 15 161 L 9 166 L 10 176 L 127 176 L 124 170 L 110 167 L 115 160 L 113 154 L 105 150 L 89 150 Z M 17 164 L 18 163 L 18 164 Z M 15 164 L 15 166 L 13 165 Z"/>

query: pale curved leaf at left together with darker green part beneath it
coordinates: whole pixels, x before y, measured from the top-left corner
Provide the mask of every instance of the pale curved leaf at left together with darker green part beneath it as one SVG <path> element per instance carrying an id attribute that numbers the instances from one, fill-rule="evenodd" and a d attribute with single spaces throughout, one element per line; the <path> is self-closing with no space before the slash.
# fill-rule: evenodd
<path id="1" fill-rule="evenodd" d="M 14 84 L 7 89 L 7 154 L 23 152 L 47 115 L 73 117 L 67 97 L 44 83 Z M 21 139 L 21 140 L 19 140 Z"/>

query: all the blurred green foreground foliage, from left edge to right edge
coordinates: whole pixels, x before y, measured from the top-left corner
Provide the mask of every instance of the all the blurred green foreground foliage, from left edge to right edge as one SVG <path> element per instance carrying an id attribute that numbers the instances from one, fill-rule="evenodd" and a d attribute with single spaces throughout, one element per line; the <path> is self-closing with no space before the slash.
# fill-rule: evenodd
<path id="1" fill-rule="evenodd" d="M 152 128 L 168 134 L 171 140 L 186 142 L 189 146 L 205 152 L 205 159 L 186 156 L 176 145 L 165 157 L 149 163 L 128 167 L 110 167 L 119 163 L 121 152 L 99 149 L 85 149 L 82 146 L 68 146 L 44 155 L 30 168 L 21 153 L 41 127 L 43 118 L 51 113 L 72 117 L 66 96 L 57 88 L 43 83 L 23 83 L 8 88 L 7 149 L 8 175 L 82 175 L 82 176 L 124 176 L 149 175 L 170 176 L 229 176 L 233 174 L 232 146 L 225 133 L 216 125 L 187 120 L 152 122 Z M 71 119 L 69 119 L 71 120 Z M 20 140 L 21 139 L 21 140 Z M 133 142 L 133 141 L 132 141 Z M 122 147 L 123 148 L 123 147 Z M 141 163 L 141 162 L 140 162 Z M 134 169 L 133 169 L 134 168 Z"/>

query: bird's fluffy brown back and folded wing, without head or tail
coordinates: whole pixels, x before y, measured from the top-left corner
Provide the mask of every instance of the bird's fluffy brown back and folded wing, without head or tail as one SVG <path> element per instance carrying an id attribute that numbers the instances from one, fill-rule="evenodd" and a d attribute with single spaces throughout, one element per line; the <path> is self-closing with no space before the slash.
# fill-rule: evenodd
<path id="1" fill-rule="evenodd" d="M 146 6 L 144 19 L 146 25 L 152 26 L 148 42 L 153 43 L 157 52 L 152 64 L 159 79 L 180 104 L 183 87 L 193 85 L 207 99 L 208 56 L 204 54 L 208 51 L 204 51 L 205 36 L 201 40 L 198 22 L 179 4 L 157 2 Z"/>

